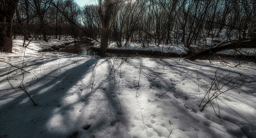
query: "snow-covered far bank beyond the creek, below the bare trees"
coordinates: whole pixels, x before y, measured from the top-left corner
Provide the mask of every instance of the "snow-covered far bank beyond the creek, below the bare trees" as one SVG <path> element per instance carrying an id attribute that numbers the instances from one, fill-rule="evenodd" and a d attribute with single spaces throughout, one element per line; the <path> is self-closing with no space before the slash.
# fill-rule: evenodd
<path id="1" fill-rule="evenodd" d="M 226 34 L 226 29 L 223 29 L 220 33 L 219 33 L 219 37 L 217 36 L 217 32 L 219 30 L 215 29 L 214 30 L 214 36 L 215 37 L 206 37 L 205 39 L 201 39 L 200 43 L 197 42 L 197 45 L 192 44 L 191 47 L 193 48 L 197 48 L 197 47 L 203 47 L 204 48 L 211 48 L 211 47 L 216 47 L 217 45 L 221 44 L 222 42 L 226 42 L 226 41 L 230 41 L 230 39 L 236 39 L 236 32 L 231 32 L 230 33 L 230 39 L 227 38 L 227 34 Z M 207 31 L 206 31 L 207 32 Z M 206 33 L 205 32 L 205 33 Z M 162 53 L 177 53 L 178 55 L 181 54 L 187 54 L 188 50 L 187 47 L 184 47 L 184 44 L 181 42 L 181 37 L 179 34 L 181 34 L 181 31 L 179 31 L 179 33 L 177 34 L 176 32 L 173 32 L 173 36 L 176 36 L 176 38 L 172 38 L 173 39 L 173 43 L 172 44 L 160 44 L 159 46 L 156 45 L 156 43 L 154 42 L 154 40 L 152 40 L 149 44 L 145 44 L 145 47 L 143 47 L 142 44 L 138 43 L 138 42 L 127 42 L 127 44 L 125 42 L 122 42 L 121 47 L 118 47 L 118 45 L 116 45 L 116 42 L 110 42 L 108 49 L 114 49 L 114 50 L 144 50 L 144 51 L 159 51 Z M 202 38 L 204 38 L 202 36 Z M 178 44 L 176 43 L 176 40 L 178 39 Z M 187 35 L 185 36 L 185 39 L 187 39 Z M 99 39 L 98 39 L 99 40 Z M 100 44 L 99 42 L 96 42 L 95 40 L 94 42 L 94 47 L 99 48 Z M 230 44 L 230 43 L 226 43 L 225 45 Z M 195 52 L 199 52 L 199 51 L 195 51 Z M 249 49 L 238 49 L 238 50 L 225 50 L 225 51 L 221 51 L 218 54 L 222 54 L 222 55 L 256 55 L 256 48 L 249 48 Z"/>

